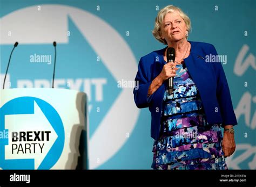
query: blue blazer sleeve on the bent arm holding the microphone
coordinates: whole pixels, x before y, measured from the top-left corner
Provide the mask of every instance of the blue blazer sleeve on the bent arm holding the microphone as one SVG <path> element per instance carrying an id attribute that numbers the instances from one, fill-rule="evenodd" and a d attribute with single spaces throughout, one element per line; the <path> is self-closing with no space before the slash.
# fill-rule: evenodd
<path id="1" fill-rule="evenodd" d="M 146 60 L 142 57 L 140 58 L 138 72 L 135 77 L 135 81 L 137 82 L 136 85 L 138 85 L 138 87 L 133 89 L 134 102 L 139 109 L 149 107 L 155 93 L 154 92 L 150 97 L 147 97 L 147 92 L 149 90 L 150 84 L 152 83 L 150 77 L 150 67 Z"/>

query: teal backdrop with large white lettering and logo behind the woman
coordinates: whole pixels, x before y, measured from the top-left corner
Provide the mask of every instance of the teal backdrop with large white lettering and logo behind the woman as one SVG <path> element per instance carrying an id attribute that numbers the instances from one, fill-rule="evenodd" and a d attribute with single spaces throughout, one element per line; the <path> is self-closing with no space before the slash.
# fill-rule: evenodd
<path id="1" fill-rule="evenodd" d="M 151 31 L 158 10 L 170 4 L 190 17 L 188 40 L 211 43 L 226 55 L 223 67 L 238 119 L 237 148 L 227 165 L 256 169 L 254 0 L 0 0 L 1 87 L 16 41 L 5 88 L 51 87 L 57 41 L 56 88 L 89 96 L 89 168 L 151 169 L 151 116 L 136 108 L 130 83 L 140 57 L 165 47 Z M 48 61 L 36 62 L 37 55 Z M 102 124 L 105 133 L 98 131 Z"/>

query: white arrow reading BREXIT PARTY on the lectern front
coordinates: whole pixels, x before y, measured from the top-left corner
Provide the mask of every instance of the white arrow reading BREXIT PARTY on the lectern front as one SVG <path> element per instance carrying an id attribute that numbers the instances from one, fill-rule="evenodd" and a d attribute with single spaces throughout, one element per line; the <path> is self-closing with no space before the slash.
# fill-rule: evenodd
<path id="1" fill-rule="evenodd" d="M 34 114 L 6 115 L 5 124 L 8 124 L 5 128 L 9 130 L 9 145 L 5 146 L 5 160 L 35 159 L 35 169 L 37 169 L 58 137 L 40 107 L 34 102 Z M 26 134 L 23 133 L 24 136 L 21 138 L 19 133 L 18 141 L 12 141 L 12 132 Z"/>

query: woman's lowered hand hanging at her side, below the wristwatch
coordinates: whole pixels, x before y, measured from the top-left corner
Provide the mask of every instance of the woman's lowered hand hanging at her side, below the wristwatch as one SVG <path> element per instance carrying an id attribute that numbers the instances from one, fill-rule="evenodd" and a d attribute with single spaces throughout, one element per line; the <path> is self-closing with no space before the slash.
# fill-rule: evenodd
<path id="1" fill-rule="evenodd" d="M 221 147 L 223 148 L 224 157 L 231 156 L 235 151 L 234 134 L 224 131 Z"/>

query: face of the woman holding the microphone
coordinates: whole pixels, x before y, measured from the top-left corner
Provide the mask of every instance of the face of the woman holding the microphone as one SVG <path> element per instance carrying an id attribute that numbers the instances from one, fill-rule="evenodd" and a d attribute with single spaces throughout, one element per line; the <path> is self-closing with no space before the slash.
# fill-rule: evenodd
<path id="1" fill-rule="evenodd" d="M 177 11 L 165 15 L 161 25 L 161 38 L 165 39 L 167 44 L 172 41 L 186 39 L 186 31 L 185 21 Z"/>

